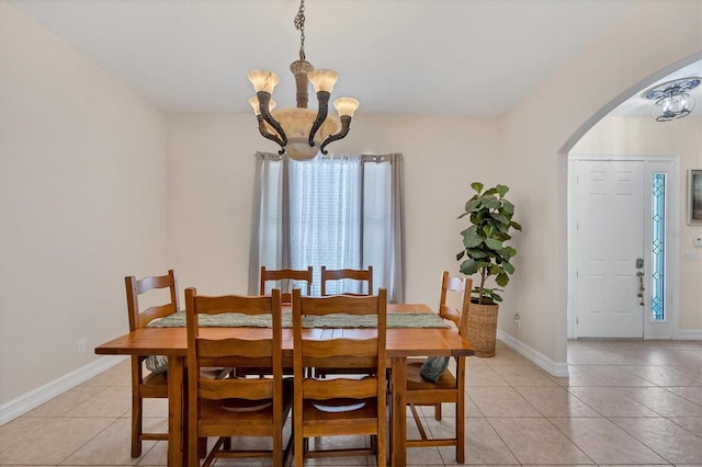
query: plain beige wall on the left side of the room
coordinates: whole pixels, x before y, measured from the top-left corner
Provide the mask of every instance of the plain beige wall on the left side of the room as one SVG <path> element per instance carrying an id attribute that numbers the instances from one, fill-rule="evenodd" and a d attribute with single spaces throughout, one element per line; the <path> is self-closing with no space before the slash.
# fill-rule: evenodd
<path id="1" fill-rule="evenodd" d="M 0 406 L 127 330 L 123 277 L 167 266 L 166 156 L 161 112 L 0 2 Z"/>

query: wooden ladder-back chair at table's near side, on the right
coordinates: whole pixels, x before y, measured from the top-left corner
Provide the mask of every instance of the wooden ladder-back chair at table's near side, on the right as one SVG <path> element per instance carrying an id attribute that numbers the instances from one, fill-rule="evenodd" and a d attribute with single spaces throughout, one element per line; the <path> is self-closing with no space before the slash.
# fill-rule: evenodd
<path id="1" fill-rule="evenodd" d="M 293 437 L 295 466 L 306 458 L 326 456 L 375 455 L 377 465 L 386 456 L 386 376 L 385 316 L 387 293 L 374 296 L 337 295 L 303 297 L 293 291 L 293 366 L 295 398 Z M 303 328 L 305 319 L 338 314 L 375 315 L 376 329 L 343 329 L 330 337 L 319 329 Z M 318 379 L 305 373 L 307 367 L 374 367 L 375 374 L 364 378 Z M 330 436 L 371 436 L 371 447 L 363 442 L 358 448 L 325 448 Z M 315 448 L 309 438 L 315 440 Z"/>

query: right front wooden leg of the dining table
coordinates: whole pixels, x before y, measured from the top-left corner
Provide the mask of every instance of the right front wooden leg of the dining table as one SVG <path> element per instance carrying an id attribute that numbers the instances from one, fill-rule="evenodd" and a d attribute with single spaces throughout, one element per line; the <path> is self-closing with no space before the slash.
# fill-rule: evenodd
<path id="1" fill-rule="evenodd" d="M 407 357 L 393 357 L 390 372 L 393 407 L 390 409 L 390 465 L 401 467 L 407 465 Z"/>

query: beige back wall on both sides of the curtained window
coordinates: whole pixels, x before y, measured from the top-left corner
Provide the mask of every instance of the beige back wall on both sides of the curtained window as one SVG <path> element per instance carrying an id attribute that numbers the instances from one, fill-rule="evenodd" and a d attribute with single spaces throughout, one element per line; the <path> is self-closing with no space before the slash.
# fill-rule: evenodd
<path id="1" fill-rule="evenodd" d="M 456 217 L 476 180 L 499 182 L 495 118 L 362 115 L 335 153 L 405 156 L 407 301 L 435 304 L 457 274 Z M 246 293 L 257 150 L 273 151 L 252 114 L 169 117 L 169 259 L 181 286 Z"/>

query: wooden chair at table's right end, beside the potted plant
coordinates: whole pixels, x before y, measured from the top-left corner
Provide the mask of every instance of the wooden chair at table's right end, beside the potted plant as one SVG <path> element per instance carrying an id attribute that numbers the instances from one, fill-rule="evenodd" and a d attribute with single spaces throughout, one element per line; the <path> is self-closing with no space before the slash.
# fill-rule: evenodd
<path id="1" fill-rule="evenodd" d="M 471 289 L 473 281 L 471 277 L 452 277 L 448 271 L 443 272 L 441 280 L 441 298 L 439 303 L 439 315 L 452 321 L 458 333 L 465 339 L 467 331 L 467 314 L 471 305 Z M 449 297 L 454 295 L 461 308 L 455 308 L 449 304 Z M 422 376 L 422 365 L 426 362 L 409 362 L 407 365 L 407 405 L 412 418 L 417 423 L 417 429 L 421 438 L 407 440 L 407 447 L 426 446 L 455 446 L 456 462 L 465 463 L 465 357 L 455 357 L 455 374 L 451 369 L 445 369 L 437 381 L 428 380 Z M 427 430 L 421 423 L 421 418 L 417 411 L 418 406 L 431 406 L 434 408 L 434 418 L 440 421 L 441 405 L 453 403 L 455 406 L 455 428 L 453 437 L 429 437 Z M 405 413 L 398 414 L 405 417 Z"/>

